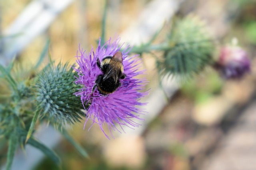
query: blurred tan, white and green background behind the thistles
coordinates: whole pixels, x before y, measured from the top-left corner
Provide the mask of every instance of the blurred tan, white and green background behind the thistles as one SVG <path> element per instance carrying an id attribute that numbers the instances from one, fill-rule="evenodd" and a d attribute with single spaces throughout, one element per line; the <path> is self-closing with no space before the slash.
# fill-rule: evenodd
<path id="1" fill-rule="evenodd" d="M 34 2 L 43 3 L 43 10 L 36 11 L 35 6 L 28 9 Z M 107 39 L 118 34 L 122 42 L 138 45 L 162 28 L 156 39 L 160 42 L 166 38 L 169 30 L 166 25 L 173 18 L 192 13 L 206 22 L 217 45 L 228 44 L 237 37 L 248 52 L 251 72 L 241 80 L 224 80 L 218 72 L 207 68 L 182 84 L 166 83 L 162 90 L 166 90 L 168 99 L 163 95 L 159 103 L 149 102 L 152 107 L 161 107 L 149 111 L 153 116 L 148 116 L 143 130 L 115 135 L 116 139 L 108 140 L 97 125 L 88 131 L 90 122 L 83 130 L 82 120 L 69 127 L 69 131 L 90 158 L 80 156 L 68 141 L 60 139 L 52 147 L 62 159 L 63 170 L 256 169 L 256 1 L 109 0 L 108 3 Z M 45 11 L 52 12 L 53 17 L 46 14 L 40 18 Z M 9 36 L 9 46 L 0 48 L 1 52 L 3 47 L 8 49 L 0 61 L 8 62 L 16 54 L 21 65 L 35 64 L 50 39 L 50 52 L 56 62 L 75 63 L 79 44 L 88 51 L 91 45 L 96 47 L 103 12 L 103 0 L 2 0 L 0 33 Z M 19 32 L 22 29 L 17 26 L 22 23 L 17 20 L 26 22 L 26 16 L 30 19 L 22 29 L 30 29 L 31 35 L 22 39 L 22 31 Z M 32 23 L 38 27 L 31 27 Z M 14 43 L 17 39 L 19 42 Z M 145 101 L 151 101 L 157 98 L 154 95 L 159 90 L 158 72 L 154 57 L 142 55 L 142 59 L 150 82 L 147 88 L 151 89 Z M 44 157 L 28 169 L 58 168 Z"/>

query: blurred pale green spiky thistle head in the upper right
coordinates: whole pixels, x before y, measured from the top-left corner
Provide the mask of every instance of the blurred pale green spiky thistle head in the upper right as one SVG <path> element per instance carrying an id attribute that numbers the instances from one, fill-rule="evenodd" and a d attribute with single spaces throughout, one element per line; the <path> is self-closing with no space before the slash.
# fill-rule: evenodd
<path id="1" fill-rule="evenodd" d="M 204 23 L 195 16 L 174 24 L 167 43 L 171 48 L 164 52 L 161 67 L 164 73 L 188 77 L 213 61 L 214 42 Z"/>

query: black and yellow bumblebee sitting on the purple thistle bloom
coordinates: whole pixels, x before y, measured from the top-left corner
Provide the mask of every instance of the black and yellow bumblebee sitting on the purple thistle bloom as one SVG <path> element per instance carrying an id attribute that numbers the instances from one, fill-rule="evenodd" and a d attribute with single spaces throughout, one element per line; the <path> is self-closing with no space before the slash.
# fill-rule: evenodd
<path id="1" fill-rule="evenodd" d="M 121 86 L 120 79 L 126 77 L 122 61 L 123 56 L 120 51 L 116 52 L 114 56 L 104 57 L 101 63 L 97 59 L 96 64 L 102 71 L 102 74 L 97 76 L 92 93 L 97 87 L 100 94 L 108 95 L 115 92 Z"/>

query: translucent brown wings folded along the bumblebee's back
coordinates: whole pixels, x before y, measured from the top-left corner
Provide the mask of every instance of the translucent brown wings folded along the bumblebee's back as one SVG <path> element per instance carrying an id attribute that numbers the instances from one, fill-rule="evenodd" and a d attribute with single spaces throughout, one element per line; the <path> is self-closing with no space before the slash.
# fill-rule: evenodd
<path id="1" fill-rule="evenodd" d="M 114 81 L 117 82 L 122 67 L 122 61 L 122 53 L 120 51 L 116 52 L 109 62 L 109 67 L 106 70 L 103 79 L 112 77 L 114 78 Z"/>

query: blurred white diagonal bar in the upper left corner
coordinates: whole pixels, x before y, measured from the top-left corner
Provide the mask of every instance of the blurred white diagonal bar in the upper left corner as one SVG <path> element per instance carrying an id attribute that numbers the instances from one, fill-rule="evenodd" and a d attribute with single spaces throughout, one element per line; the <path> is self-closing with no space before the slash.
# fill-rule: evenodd
<path id="1" fill-rule="evenodd" d="M 33 39 L 44 33 L 52 21 L 73 0 L 34 0 L 21 12 L 16 20 L 3 31 L 0 64 L 6 65 Z"/>

